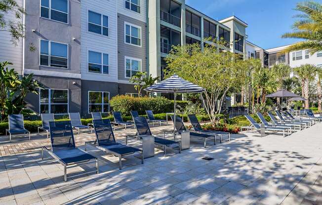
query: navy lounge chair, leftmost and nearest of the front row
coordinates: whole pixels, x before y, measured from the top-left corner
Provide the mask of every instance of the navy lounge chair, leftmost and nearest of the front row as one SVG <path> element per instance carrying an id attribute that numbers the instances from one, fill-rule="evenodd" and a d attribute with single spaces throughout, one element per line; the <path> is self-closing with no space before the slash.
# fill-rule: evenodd
<path id="1" fill-rule="evenodd" d="M 73 127 L 71 121 L 49 122 L 51 149 L 42 147 L 43 150 L 64 166 L 64 181 L 67 181 L 67 168 L 69 166 L 84 165 L 96 162 L 96 173 L 98 173 L 98 160 L 96 157 L 75 146 Z M 93 171 L 90 171 L 93 172 Z M 89 172 L 88 172 L 89 173 Z"/>

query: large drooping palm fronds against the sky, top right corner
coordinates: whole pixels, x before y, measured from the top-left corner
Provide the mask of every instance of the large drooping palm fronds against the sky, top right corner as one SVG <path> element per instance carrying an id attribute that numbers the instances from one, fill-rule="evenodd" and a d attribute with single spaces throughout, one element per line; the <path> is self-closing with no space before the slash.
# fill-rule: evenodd
<path id="1" fill-rule="evenodd" d="M 289 46 L 286 51 L 309 49 L 311 54 L 322 51 L 322 4 L 313 1 L 298 3 L 296 10 L 303 12 L 293 24 L 293 32 L 283 34 L 283 38 L 298 38 L 305 41 Z"/>

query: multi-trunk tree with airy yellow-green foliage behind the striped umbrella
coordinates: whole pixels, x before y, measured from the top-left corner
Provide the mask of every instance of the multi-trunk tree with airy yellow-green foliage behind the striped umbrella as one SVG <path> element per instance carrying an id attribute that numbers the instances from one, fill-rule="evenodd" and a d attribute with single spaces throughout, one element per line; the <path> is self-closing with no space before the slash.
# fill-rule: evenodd
<path id="1" fill-rule="evenodd" d="M 203 51 L 197 43 L 173 46 L 165 61 L 167 75 L 176 73 L 206 90 L 202 101 L 213 125 L 230 90 L 244 82 L 243 60 L 231 52 L 218 52 L 215 46 L 205 46 Z"/>

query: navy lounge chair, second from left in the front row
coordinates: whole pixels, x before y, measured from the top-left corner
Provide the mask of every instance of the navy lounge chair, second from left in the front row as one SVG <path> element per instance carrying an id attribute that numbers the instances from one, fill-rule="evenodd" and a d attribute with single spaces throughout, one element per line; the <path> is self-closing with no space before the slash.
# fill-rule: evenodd
<path id="1" fill-rule="evenodd" d="M 128 166 L 132 164 L 137 164 L 138 162 L 128 163 L 122 165 L 122 159 L 129 157 L 141 157 L 139 160 L 140 163 L 144 163 L 143 151 L 141 149 L 130 147 L 121 143 L 117 143 L 114 137 L 113 128 L 111 121 L 109 119 L 100 119 L 93 120 L 96 140 L 93 142 L 85 142 L 85 151 L 86 145 L 91 145 L 96 147 L 99 150 L 102 150 L 107 153 L 111 153 L 114 156 L 119 157 L 119 169 L 122 169 L 122 166 Z"/>

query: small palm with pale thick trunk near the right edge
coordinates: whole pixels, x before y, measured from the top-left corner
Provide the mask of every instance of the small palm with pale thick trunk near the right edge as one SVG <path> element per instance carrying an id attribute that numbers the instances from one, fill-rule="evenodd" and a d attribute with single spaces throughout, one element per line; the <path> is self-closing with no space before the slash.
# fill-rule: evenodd
<path id="1" fill-rule="evenodd" d="M 295 74 L 301 79 L 302 97 L 307 99 L 305 109 L 309 109 L 309 85 L 315 79 L 318 69 L 318 67 L 311 64 L 304 64 L 294 68 Z"/>

